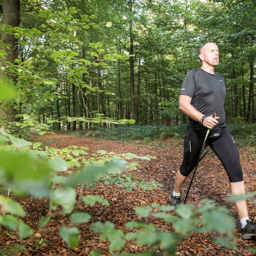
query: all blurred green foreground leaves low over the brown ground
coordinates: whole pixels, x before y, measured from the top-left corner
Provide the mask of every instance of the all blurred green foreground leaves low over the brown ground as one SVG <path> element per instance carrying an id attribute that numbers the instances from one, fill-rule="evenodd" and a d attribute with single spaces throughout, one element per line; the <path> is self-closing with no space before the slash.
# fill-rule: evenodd
<path id="1" fill-rule="evenodd" d="M 31 143 L 18 139 L 4 130 L 1 131 L 1 140 L 3 142 L 1 154 L 5 154 L 7 162 L 7 164 L 2 162 L 0 164 L 1 186 L 6 189 L 12 188 L 13 199 L 0 197 L 2 209 L 0 225 L 16 231 L 20 238 L 31 236 L 34 230 L 22 220 L 26 212 L 15 202 L 14 198 L 29 194 L 47 198 L 44 201 L 47 202 L 49 207 L 49 214 L 38 220 L 39 228 L 47 228 L 50 220 L 54 220 L 58 214 L 68 216 L 68 223 L 60 226 L 59 233 L 70 249 L 75 248 L 79 243 L 79 227 L 81 227 L 81 224 L 86 225 L 96 233 L 100 233 L 100 240 L 108 240 L 108 250 L 110 252 L 121 250 L 126 241 L 135 239 L 138 245 L 147 244 L 149 246 L 148 250 L 145 251 L 147 255 L 152 253 L 152 255 L 155 255 L 152 249 L 158 247 L 161 247 L 170 255 L 174 255 L 176 252 L 175 244 L 188 237 L 191 232 L 217 232 L 220 237 L 218 239 L 213 237 L 212 242 L 236 249 L 236 245 L 233 243 L 235 221 L 225 207 L 215 207 L 212 201 L 204 200 L 198 208 L 195 208 L 194 205 L 180 204 L 175 209 L 177 215 L 173 215 L 174 207 L 170 205 L 152 204 L 137 207 L 135 212 L 146 219 L 142 222 L 131 221 L 126 223 L 127 233 L 125 234 L 121 229 L 116 229 L 111 222 L 91 222 L 89 213 L 77 210 L 76 205 L 80 201 L 91 206 L 96 202 L 109 206 L 108 201 L 101 196 L 93 194 L 82 196 L 82 193 L 79 192 L 79 189 L 83 189 L 84 186 L 91 186 L 96 181 L 102 180 L 106 185 L 116 184 L 118 187 L 125 188 L 128 192 L 137 189 L 137 187 L 153 189 L 162 186 L 155 181 L 147 182 L 144 179 L 136 179 L 131 175 L 116 175 L 120 174 L 124 168 L 136 167 L 136 165 L 128 164 L 124 160 L 132 158 L 150 160 L 152 159 L 150 156 L 140 157 L 131 153 L 115 155 L 104 150 L 94 152 L 90 156 L 89 153 L 86 154 L 86 148 L 76 146 L 56 149 L 45 145 L 43 150 L 40 142 Z M 71 155 L 73 156 L 71 157 Z M 79 159 L 81 163 L 84 161 L 85 166 L 76 172 L 62 175 L 67 171 L 68 166 L 76 166 L 79 163 L 76 157 L 80 155 L 89 155 L 86 163 L 84 158 Z M 10 163 L 13 157 L 16 159 L 14 165 Z M 77 163 L 70 165 L 69 162 L 72 162 L 72 158 L 76 159 Z M 24 165 L 26 171 L 21 170 L 23 175 L 19 175 L 19 170 L 15 169 L 15 165 Z M 17 172 L 16 177 L 15 172 Z M 35 186 L 37 189 L 35 189 Z M 233 200 L 241 200 L 241 196 Z M 58 212 L 58 209 L 61 209 L 61 211 Z M 172 223 L 174 232 L 157 228 L 153 224 L 147 224 L 147 220 L 150 218 L 162 219 L 166 223 Z M 45 243 L 47 241 L 38 240 L 34 247 L 40 247 Z M 2 250 L 3 252 L 8 250 L 18 252 L 26 250 L 26 248 L 23 249 L 17 244 L 15 247 L 6 247 Z"/>

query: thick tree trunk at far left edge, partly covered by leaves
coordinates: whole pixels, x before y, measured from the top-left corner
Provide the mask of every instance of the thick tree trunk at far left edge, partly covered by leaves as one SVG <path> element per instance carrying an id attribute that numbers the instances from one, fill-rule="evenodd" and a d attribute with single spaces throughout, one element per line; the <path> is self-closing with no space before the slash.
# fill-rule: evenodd
<path id="1" fill-rule="evenodd" d="M 2 24 L 4 27 L 19 27 L 20 25 L 20 0 L 2 0 Z M 1 41 L 4 44 L 10 44 L 11 47 L 8 49 L 7 47 L 1 48 L 2 51 L 7 52 L 6 59 L 3 62 L 14 63 L 14 60 L 18 58 L 18 39 L 15 38 L 14 35 L 8 34 L 6 30 L 2 30 L 1 32 Z M 5 64 L 7 67 L 8 64 Z M 7 68 L 8 78 L 14 81 L 16 84 L 15 75 L 10 72 Z M 0 75 L 2 76 L 2 74 Z M 0 108 L 0 117 L 3 119 L 12 122 L 15 117 L 16 110 L 14 106 L 7 106 L 5 113 L 2 108 Z"/>

